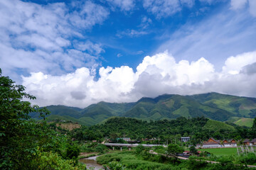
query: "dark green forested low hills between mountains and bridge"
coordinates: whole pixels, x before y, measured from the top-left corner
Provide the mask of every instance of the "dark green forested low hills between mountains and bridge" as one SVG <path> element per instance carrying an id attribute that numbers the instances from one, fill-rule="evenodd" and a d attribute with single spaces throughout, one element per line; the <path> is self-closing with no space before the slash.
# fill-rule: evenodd
<path id="1" fill-rule="evenodd" d="M 256 137 L 256 118 L 252 128 L 241 127 L 235 124 L 221 123 L 208 118 L 177 118 L 176 120 L 145 121 L 134 118 L 111 118 L 104 124 L 90 127 L 82 126 L 70 132 L 76 140 L 100 140 L 117 137 L 130 137 L 132 140 L 156 138 L 158 142 L 177 142 L 182 136 L 192 137 L 191 144 L 208 140 L 214 137 L 218 140 Z"/>

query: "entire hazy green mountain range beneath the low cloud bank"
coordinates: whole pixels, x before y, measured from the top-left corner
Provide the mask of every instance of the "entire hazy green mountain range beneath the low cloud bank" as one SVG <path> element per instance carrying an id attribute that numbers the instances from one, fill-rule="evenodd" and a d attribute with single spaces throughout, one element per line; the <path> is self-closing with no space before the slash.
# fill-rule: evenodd
<path id="1" fill-rule="evenodd" d="M 175 119 L 204 116 L 212 120 L 241 122 L 241 118 L 256 117 L 256 98 L 208 93 L 191 96 L 164 94 L 156 98 L 141 98 L 134 103 L 92 104 L 87 108 L 46 106 L 51 112 L 48 121 L 71 120 L 81 125 L 95 125 L 114 116 L 142 120 Z M 38 118 L 38 113 L 31 113 Z"/>

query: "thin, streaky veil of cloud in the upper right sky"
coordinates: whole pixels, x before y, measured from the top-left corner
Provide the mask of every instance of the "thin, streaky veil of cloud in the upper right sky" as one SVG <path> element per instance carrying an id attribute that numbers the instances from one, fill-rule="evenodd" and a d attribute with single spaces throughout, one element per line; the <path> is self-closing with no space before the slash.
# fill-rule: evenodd
<path id="1" fill-rule="evenodd" d="M 195 24 L 187 23 L 164 35 L 156 53 L 169 50 L 178 60 L 204 57 L 220 70 L 227 56 L 254 51 L 256 22 L 245 11 L 220 11 Z"/>

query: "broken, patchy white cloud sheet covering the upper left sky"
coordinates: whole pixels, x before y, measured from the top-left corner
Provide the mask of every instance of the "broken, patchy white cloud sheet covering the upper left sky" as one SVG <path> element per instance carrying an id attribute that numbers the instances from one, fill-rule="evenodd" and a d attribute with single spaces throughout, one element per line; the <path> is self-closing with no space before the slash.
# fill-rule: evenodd
<path id="1" fill-rule="evenodd" d="M 72 12 L 65 3 L 18 0 L 0 1 L 0 8 L 0 67 L 11 77 L 17 77 L 17 70 L 59 75 L 76 67 L 95 67 L 104 52 L 80 33 L 109 15 L 92 1 L 81 2 Z"/>

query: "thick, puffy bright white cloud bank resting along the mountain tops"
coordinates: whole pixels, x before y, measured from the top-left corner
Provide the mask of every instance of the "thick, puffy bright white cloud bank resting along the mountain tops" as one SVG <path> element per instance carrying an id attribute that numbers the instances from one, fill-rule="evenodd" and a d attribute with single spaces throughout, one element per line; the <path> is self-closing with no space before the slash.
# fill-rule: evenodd
<path id="1" fill-rule="evenodd" d="M 135 72 L 128 66 L 101 67 L 99 79 L 82 67 L 70 74 L 52 76 L 42 72 L 23 77 L 26 91 L 36 104 L 63 104 L 84 108 L 92 103 L 132 102 L 161 94 L 223 94 L 256 97 L 256 52 L 228 57 L 221 72 L 205 58 L 176 61 L 168 52 L 146 56 Z"/>

